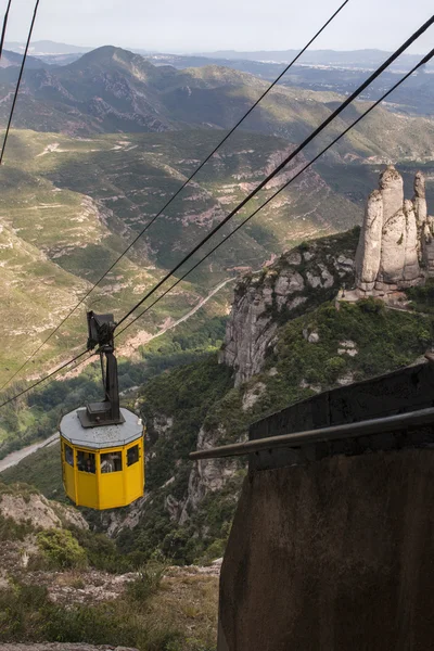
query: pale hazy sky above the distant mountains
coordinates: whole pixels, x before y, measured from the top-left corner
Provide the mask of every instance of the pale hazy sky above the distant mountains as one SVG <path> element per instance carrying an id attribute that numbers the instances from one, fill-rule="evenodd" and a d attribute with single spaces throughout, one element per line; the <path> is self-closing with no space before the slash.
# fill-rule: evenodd
<path id="1" fill-rule="evenodd" d="M 303 47 L 342 1 L 40 0 L 34 39 L 165 52 L 285 50 Z M 33 7 L 13 0 L 7 40 L 25 39 Z M 392 50 L 433 10 L 433 0 L 350 0 L 315 49 Z M 431 28 L 412 51 L 433 46 Z"/>

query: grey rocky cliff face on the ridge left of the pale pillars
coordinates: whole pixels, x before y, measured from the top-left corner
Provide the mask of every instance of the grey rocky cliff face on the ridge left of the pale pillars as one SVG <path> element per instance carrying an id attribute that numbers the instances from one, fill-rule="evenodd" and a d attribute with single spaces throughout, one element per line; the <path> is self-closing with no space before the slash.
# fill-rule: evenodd
<path id="1" fill-rule="evenodd" d="M 235 386 L 261 370 L 279 322 L 353 284 L 356 242 L 357 229 L 303 244 L 238 284 L 220 354 Z"/>

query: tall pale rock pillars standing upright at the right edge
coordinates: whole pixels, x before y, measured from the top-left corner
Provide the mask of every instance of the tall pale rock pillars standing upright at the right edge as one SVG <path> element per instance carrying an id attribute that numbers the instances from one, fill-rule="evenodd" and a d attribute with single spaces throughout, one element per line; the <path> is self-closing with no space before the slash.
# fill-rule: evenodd
<path id="1" fill-rule="evenodd" d="M 427 216 L 425 179 L 418 171 L 414 197 L 404 199 L 403 177 L 390 165 L 368 199 L 356 253 L 356 288 L 382 295 L 423 282 L 430 273 L 433 218 Z"/>

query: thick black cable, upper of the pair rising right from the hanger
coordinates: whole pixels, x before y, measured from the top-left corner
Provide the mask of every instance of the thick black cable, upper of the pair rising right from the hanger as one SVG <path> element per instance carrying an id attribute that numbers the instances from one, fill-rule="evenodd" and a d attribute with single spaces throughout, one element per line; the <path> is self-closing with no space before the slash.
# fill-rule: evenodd
<path id="1" fill-rule="evenodd" d="M 359 86 L 344 102 L 342 102 L 342 104 L 335 110 L 333 111 L 333 113 L 331 113 L 329 115 L 329 117 L 327 119 L 323 120 L 323 123 L 317 127 L 315 129 L 315 131 L 312 131 L 312 133 L 310 133 L 310 136 L 308 136 L 303 142 L 302 144 L 299 144 L 289 156 L 286 156 L 286 158 L 284 158 L 284 161 L 282 161 L 282 163 L 280 163 L 280 165 L 278 165 L 276 167 L 276 169 L 273 169 L 273 171 L 271 171 L 256 188 L 255 190 L 253 190 L 245 199 L 243 199 L 243 201 L 241 203 L 238 204 L 238 206 L 235 208 L 233 208 L 233 210 L 231 210 L 229 213 L 229 215 L 227 215 L 227 217 L 225 217 L 225 219 L 222 219 L 217 226 L 215 226 L 207 235 L 205 235 L 205 238 L 203 238 L 201 240 L 201 242 L 199 242 L 199 244 L 196 244 L 194 246 L 194 248 L 192 248 L 192 251 L 190 251 L 190 253 L 188 253 L 180 263 L 178 263 L 173 269 L 171 271 L 169 271 L 168 273 L 166 273 L 166 276 L 158 281 L 152 290 L 150 290 L 138 303 L 136 303 L 136 305 L 133 307 L 131 307 L 131 309 L 120 319 L 120 321 L 117 323 L 117 326 L 120 326 L 120 323 L 123 323 L 129 316 L 132 315 L 132 312 L 135 312 L 150 296 L 152 296 L 152 294 L 154 294 L 165 282 L 166 280 L 168 280 L 171 276 L 174 276 L 174 273 L 176 273 L 176 271 L 182 267 L 182 265 L 184 265 L 204 244 L 206 244 L 206 242 L 208 240 L 210 240 L 210 238 L 213 238 L 213 235 L 215 235 L 215 233 L 217 233 L 230 219 L 232 219 L 232 217 L 234 215 L 237 215 L 237 213 L 239 213 L 241 210 L 241 208 L 243 208 L 245 206 L 246 203 L 248 203 L 267 183 L 269 183 L 269 181 L 276 176 L 278 175 L 293 158 L 295 158 L 295 156 L 297 156 L 302 150 L 304 150 L 319 133 L 321 133 L 321 131 L 323 131 L 326 129 L 326 127 L 329 126 L 330 123 L 332 123 L 343 111 L 344 108 L 346 108 L 346 106 L 348 106 L 348 104 L 350 104 L 370 84 L 372 84 L 372 81 L 374 81 L 374 79 L 376 79 L 376 77 L 379 77 L 396 59 L 398 59 L 398 56 L 405 51 L 407 50 L 407 48 L 409 48 L 424 31 L 426 31 L 426 29 L 429 27 L 431 27 L 431 25 L 434 23 L 434 15 L 431 16 L 431 18 L 429 21 L 426 21 L 426 23 L 424 23 L 422 25 L 422 27 L 420 27 L 417 31 L 414 31 L 414 34 L 406 40 L 405 43 L 403 43 L 403 46 L 400 46 L 400 48 L 398 48 L 388 59 L 387 61 L 385 61 L 374 73 L 372 73 L 372 75 L 369 76 L 369 78 L 363 81 L 363 84 L 361 84 L 361 86 Z"/>

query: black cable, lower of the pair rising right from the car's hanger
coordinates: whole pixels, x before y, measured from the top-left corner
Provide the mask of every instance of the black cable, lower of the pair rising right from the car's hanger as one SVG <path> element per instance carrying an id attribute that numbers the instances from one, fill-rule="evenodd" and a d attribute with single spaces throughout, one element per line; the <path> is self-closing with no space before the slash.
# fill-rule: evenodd
<path id="1" fill-rule="evenodd" d="M 343 131 L 340 136 L 337 136 L 330 144 L 328 144 L 319 154 L 317 154 L 315 156 L 315 158 L 312 158 L 309 163 L 307 163 L 299 171 L 297 171 L 297 174 L 295 176 L 293 176 L 277 192 L 275 192 L 275 194 L 272 194 L 269 199 L 267 199 L 266 202 L 264 202 L 258 208 L 256 208 L 256 210 L 254 210 L 251 215 L 248 215 L 248 217 L 243 219 L 243 221 L 241 224 L 239 224 L 238 227 L 235 229 L 233 229 L 233 231 L 231 231 L 228 235 L 226 235 L 226 238 L 224 240 L 221 240 L 218 244 L 216 244 L 216 246 L 214 246 L 214 248 L 212 248 L 206 255 L 204 255 L 191 269 L 189 269 L 189 271 L 187 271 L 183 276 L 181 276 L 181 278 L 179 278 L 161 296 L 158 296 L 158 298 L 156 298 L 153 303 L 151 303 L 151 305 L 149 305 L 146 307 L 146 309 L 144 309 L 142 312 L 140 312 L 140 315 L 138 315 L 132 321 L 127 323 L 127 326 L 125 326 L 125 328 L 123 328 L 123 330 L 120 330 L 116 334 L 116 337 L 119 336 L 123 332 L 125 332 L 125 330 L 127 330 L 127 328 L 132 326 L 132 323 L 135 323 L 138 319 L 140 319 L 156 303 L 158 303 L 158 301 L 164 298 L 164 296 L 166 296 L 166 294 L 171 292 L 171 290 L 174 288 L 176 288 L 180 282 L 182 282 L 182 280 L 184 280 L 187 278 L 187 276 L 189 276 L 192 271 L 194 271 L 194 269 L 196 269 L 200 265 L 202 265 L 202 263 L 204 263 L 215 251 L 217 251 L 217 248 L 219 248 L 222 244 L 225 244 L 229 240 L 229 238 L 231 238 L 233 234 L 235 234 L 235 232 L 239 231 L 240 228 L 242 228 L 247 221 L 250 221 L 250 219 L 252 219 L 252 217 L 257 215 L 259 213 L 259 210 L 261 210 L 267 204 L 269 204 L 273 199 L 276 199 L 276 196 L 278 194 L 280 194 L 282 192 L 282 190 L 284 190 L 285 188 L 288 188 L 288 186 L 290 186 L 293 181 L 295 181 L 295 179 L 297 179 L 308 167 L 310 167 L 314 163 L 316 163 L 318 161 L 318 158 L 320 158 L 327 151 L 329 151 L 329 149 L 331 149 L 333 145 L 335 145 L 336 142 L 339 140 L 341 140 L 341 138 L 346 136 L 346 133 L 348 133 L 348 131 L 350 131 L 350 129 L 353 129 L 361 119 L 363 119 L 363 117 L 366 117 L 369 113 L 371 113 L 371 111 L 373 111 L 379 104 L 381 104 L 381 102 L 383 102 L 394 90 L 396 90 L 401 84 L 404 84 L 404 81 L 406 81 L 406 79 L 408 79 L 408 77 L 410 77 L 413 73 L 416 73 L 416 71 L 418 68 L 420 68 L 422 65 L 427 63 L 433 56 L 434 56 L 434 49 L 431 50 L 431 52 L 429 54 L 426 54 L 426 56 L 424 56 L 409 73 L 407 73 L 401 79 L 399 79 L 399 81 L 397 81 L 390 90 L 387 90 L 387 92 L 385 92 L 379 100 L 376 100 L 376 102 L 371 104 L 371 106 L 369 108 L 367 108 L 367 111 L 365 111 L 365 113 L 362 113 L 357 119 L 355 119 L 345 129 L 345 131 Z"/>

